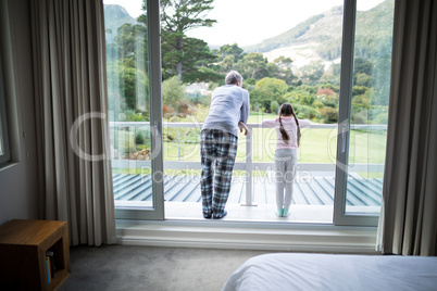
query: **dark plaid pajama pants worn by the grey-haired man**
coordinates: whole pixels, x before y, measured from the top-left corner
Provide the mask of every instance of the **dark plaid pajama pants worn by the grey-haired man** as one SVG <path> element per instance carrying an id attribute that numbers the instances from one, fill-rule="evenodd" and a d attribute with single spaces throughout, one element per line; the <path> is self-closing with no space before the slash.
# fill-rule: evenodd
<path id="1" fill-rule="evenodd" d="M 202 165 L 200 188 L 203 216 L 223 214 L 230 191 L 237 146 L 238 138 L 227 131 L 203 129 L 200 134 Z"/>

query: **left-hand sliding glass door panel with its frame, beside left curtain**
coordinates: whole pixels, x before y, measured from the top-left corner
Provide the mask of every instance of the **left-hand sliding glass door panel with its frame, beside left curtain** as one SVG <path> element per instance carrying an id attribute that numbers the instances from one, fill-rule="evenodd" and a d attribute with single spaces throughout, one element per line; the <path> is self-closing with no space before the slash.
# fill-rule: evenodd
<path id="1" fill-rule="evenodd" d="M 159 2 L 103 3 L 116 217 L 163 219 Z"/>

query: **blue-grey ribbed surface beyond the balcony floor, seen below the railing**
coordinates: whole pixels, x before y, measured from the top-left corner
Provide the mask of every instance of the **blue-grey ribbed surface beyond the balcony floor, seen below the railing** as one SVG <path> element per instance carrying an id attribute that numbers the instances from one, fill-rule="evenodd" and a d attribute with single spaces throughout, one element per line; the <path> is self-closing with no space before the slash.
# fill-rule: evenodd
<path id="1" fill-rule="evenodd" d="M 151 201 L 150 175 L 116 174 L 113 176 L 115 201 Z M 292 204 L 333 205 L 334 175 L 314 176 L 295 181 Z M 382 179 L 363 179 L 349 175 L 347 206 L 380 206 Z M 275 184 L 271 177 L 253 177 L 253 201 L 275 204 Z M 246 186 L 242 177 L 233 177 L 228 203 L 245 203 Z M 200 176 L 165 176 L 164 199 L 167 202 L 200 202 Z"/>

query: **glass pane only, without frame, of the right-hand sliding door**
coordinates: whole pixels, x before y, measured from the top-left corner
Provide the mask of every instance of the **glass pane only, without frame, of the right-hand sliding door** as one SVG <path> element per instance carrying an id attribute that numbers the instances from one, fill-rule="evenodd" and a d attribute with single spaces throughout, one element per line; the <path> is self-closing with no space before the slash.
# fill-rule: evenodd
<path id="1" fill-rule="evenodd" d="M 358 0 L 357 5 L 365 0 Z M 357 12 L 346 212 L 379 214 L 395 1 Z M 373 15 L 378 15 L 374 17 Z M 369 18 L 373 22 L 369 22 Z M 357 201 L 352 205 L 352 201 Z"/>

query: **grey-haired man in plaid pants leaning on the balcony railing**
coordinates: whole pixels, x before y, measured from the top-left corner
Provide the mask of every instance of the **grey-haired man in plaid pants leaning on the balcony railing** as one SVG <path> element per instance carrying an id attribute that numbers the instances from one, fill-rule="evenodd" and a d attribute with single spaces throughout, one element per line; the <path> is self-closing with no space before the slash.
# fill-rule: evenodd
<path id="1" fill-rule="evenodd" d="M 224 86 L 212 92 L 210 112 L 200 134 L 201 192 L 204 218 L 223 218 L 238 146 L 238 127 L 248 134 L 249 92 L 242 77 L 230 71 Z M 214 177 L 215 163 L 215 177 Z"/>

